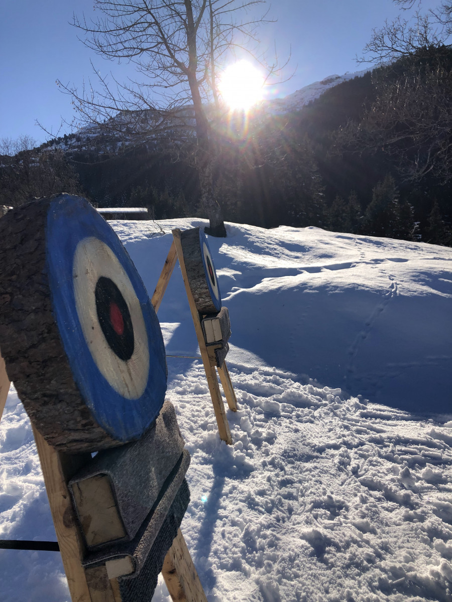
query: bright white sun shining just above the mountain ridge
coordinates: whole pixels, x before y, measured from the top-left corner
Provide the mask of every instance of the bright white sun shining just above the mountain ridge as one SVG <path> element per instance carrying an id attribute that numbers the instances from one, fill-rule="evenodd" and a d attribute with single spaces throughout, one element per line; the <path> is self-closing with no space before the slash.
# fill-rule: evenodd
<path id="1" fill-rule="evenodd" d="M 232 110 L 247 111 L 263 98 L 264 78 L 248 61 L 234 63 L 224 70 L 219 91 Z"/>

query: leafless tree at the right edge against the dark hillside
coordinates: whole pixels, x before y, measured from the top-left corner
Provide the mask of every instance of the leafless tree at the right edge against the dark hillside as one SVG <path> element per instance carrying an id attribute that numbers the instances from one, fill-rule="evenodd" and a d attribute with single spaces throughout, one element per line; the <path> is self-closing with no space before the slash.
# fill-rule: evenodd
<path id="1" fill-rule="evenodd" d="M 371 102 L 348 123 L 338 149 L 383 152 L 405 181 L 452 179 L 452 4 L 421 13 L 422 0 L 394 0 L 398 16 L 374 29 L 362 61 L 377 62 Z M 410 10 L 414 10 L 410 17 Z"/>

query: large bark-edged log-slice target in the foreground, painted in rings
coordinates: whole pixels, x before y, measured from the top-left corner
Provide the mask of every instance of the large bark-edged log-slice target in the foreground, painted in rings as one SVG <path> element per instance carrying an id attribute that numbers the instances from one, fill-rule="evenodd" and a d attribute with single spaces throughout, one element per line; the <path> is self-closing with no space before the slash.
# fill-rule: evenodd
<path id="1" fill-rule="evenodd" d="M 128 253 L 84 199 L 0 221 L 0 340 L 34 426 L 66 452 L 133 441 L 166 391 L 160 324 Z"/>

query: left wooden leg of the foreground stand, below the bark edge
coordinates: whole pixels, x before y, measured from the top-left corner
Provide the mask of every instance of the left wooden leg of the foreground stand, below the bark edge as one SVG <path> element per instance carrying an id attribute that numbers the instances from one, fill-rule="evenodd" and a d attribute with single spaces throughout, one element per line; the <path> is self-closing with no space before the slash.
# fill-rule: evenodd
<path id="1" fill-rule="evenodd" d="M 84 543 L 66 485 L 91 456 L 59 453 L 34 428 L 33 434 L 72 602 L 115 602 L 106 571 L 96 576 L 81 566 Z"/>

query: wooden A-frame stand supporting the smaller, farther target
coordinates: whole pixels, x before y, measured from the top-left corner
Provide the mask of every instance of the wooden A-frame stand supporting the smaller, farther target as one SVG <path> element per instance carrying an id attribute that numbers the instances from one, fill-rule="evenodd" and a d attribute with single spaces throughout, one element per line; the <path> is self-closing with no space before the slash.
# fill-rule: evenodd
<path id="1" fill-rule="evenodd" d="M 162 273 L 160 274 L 159 281 L 155 287 L 154 294 L 152 295 L 152 305 L 154 306 L 155 312 L 159 311 L 160 303 L 162 303 L 163 295 L 165 294 L 166 287 L 168 287 L 169 279 L 171 278 L 172 272 L 176 265 L 177 259 L 179 259 L 179 265 L 184 279 L 185 290 L 187 293 L 187 299 L 190 305 L 190 312 L 192 313 L 193 324 L 195 325 L 196 337 L 198 337 L 199 351 L 201 352 L 202 364 L 204 364 L 204 370 L 206 371 L 207 384 L 209 385 L 210 397 L 212 397 L 213 411 L 215 412 L 216 423 L 218 424 L 218 432 L 220 438 L 225 441 L 228 445 L 232 444 L 231 430 L 229 428 L 228 419 L 224 410 L 224 403 L 221 396 L 220 388 L 218 385 L 218 379 L 216 377 L 216 358 L 215 352 L 212 347 L 206 346 L 204 340 L 204 334 L 202 332 L 201 318 L 199 317 L 198 309 L 196 309 L 195 300 L 193 299 L 192 291 L 187 278 L 187 270 L 184 262 L 184 253 L 181 244 L 181 231 L 175 229 L 172 231 L 173 241 L 168 252 L 168 256 L 163 265 Z M 221 368 L 216 368 L 221 380 L 221 384 L 224 390 L 226 400 L 228 402 L 229 409 L 233 412 L 237 411 L 237 400 L 234 388 L 231 383 L 228 368 L 226 362 L 223 362 Z"/>

